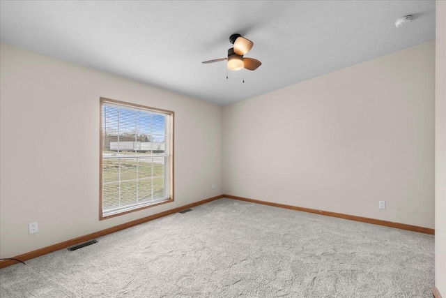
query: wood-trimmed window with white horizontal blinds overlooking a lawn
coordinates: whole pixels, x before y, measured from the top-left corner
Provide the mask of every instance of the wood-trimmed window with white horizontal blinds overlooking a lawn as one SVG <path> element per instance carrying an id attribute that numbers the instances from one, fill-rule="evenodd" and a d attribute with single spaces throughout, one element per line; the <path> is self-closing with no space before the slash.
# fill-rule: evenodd
<path id="1" fill-rule="evenodd" d="M 100 219 L 173 202 L 174 112 L 100 103 Z"/>

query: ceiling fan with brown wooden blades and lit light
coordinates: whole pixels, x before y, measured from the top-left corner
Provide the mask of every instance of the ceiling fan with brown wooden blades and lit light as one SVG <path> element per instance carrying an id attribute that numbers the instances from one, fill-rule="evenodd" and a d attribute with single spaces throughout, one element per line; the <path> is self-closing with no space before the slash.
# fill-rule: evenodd
<path id="1" fill-rule="evenodd" d="M 202 63 L 214 63 L 219 61 L 228 61 L 228 68 L 231 70 L 240 70 L 242 68 L 246 68 L 249 70 L 256 70 L 259 66 L 261 66 L 261 61 L 254 58 L 245 58 L 244 54 L 249 52 L 252 49 L 254 43 L 251 40 L 240 36 L 240 34 L 232 34 L 229 37 L 229 41 L 234 45 L 228 50 L 227 58 L 213 59 L 208 61 L 203 61 Z"/>

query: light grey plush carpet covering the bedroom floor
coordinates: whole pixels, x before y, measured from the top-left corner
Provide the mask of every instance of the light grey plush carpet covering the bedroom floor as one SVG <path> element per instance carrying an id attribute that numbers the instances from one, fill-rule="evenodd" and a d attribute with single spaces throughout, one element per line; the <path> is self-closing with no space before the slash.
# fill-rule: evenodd
<path id="1" fill-rule="evenodd" d="M 432 297 L 434 237 L 220 199 L 0 269 L 0 297 Z"/>

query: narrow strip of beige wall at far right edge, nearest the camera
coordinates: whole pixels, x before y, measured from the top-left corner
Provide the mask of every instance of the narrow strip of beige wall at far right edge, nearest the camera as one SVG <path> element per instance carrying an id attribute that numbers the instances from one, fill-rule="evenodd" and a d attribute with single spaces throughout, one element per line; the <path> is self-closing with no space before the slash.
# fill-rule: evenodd
<path id="1" fill-rule="evenodd" d="M 435 284 L 446 297 L 446 1 L 436 13 Z"/>

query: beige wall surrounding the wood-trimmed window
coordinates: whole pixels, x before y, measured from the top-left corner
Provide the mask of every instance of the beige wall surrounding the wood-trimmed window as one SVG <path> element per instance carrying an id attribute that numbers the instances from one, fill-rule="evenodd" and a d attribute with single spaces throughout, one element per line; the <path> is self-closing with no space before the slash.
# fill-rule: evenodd
<path id="1" fill-rule="evenodd" d="M 1 258 L 222 194 L 222 107 L 10 45 L 0 63 Z M 175 202 L 98 221 L 100 96 L 175 112 Z"/>

